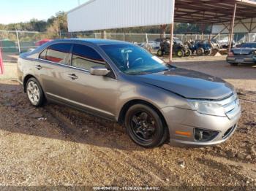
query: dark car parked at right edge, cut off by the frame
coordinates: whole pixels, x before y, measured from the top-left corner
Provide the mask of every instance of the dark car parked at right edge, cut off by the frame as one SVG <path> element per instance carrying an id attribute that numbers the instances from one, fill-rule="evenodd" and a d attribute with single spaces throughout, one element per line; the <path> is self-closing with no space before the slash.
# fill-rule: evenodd
<path id="1" fill-rule="evenodd" d="M 227 63 L 238 66 L 238 63 L 256 63 L 256 42 L 246 42 L 228 52 Z"/>

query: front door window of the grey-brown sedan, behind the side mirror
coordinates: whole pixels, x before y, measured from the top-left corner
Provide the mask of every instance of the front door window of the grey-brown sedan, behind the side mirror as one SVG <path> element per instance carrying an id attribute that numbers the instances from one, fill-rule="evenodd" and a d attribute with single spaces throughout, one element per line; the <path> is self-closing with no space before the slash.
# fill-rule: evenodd
<path id="1" fill-rule="evenodd" d="M 105 61 L 91 47 L 75 44 L 72 54 L 72 66 L 90 71 L 93 66 L 105 66 Z"/>

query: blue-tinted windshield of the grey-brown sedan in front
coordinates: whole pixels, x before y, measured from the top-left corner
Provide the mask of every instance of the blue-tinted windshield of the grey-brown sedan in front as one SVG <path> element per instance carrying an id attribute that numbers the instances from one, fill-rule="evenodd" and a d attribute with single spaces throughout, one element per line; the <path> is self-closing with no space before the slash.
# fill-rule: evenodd
<path id="1" fill-rule="evenodd" d="M 100 47 L 125 74 L 151 74 L 172 68 L 157 56 L 132 44 L 108 44 Z"/>

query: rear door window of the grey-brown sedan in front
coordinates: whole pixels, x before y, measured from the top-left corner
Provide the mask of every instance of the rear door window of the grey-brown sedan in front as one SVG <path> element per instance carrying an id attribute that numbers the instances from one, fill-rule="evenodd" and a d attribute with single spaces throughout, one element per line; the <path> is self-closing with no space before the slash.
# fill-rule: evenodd
<path id="1" fill-rule="evenodd" d="M 53 44 L 48 47 L 45 60 L 55 63 L 69 64 L 69 53 L 71 51 L 71 47 L 72 44 Z"/>

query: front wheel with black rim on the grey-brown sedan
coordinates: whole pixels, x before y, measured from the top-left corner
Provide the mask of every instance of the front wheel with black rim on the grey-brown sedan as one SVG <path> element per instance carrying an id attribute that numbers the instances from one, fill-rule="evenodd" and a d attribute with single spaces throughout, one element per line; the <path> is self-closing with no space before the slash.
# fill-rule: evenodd
<path id="1" fill-rule="evenodd" d="M 129 137 L 141 147 L 158 147 L 167 139 L 167 128 L 150 106 L 131 106 L 125 114 L 124 124 Z"/>

